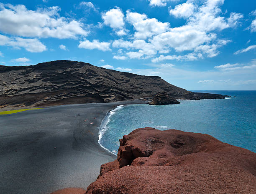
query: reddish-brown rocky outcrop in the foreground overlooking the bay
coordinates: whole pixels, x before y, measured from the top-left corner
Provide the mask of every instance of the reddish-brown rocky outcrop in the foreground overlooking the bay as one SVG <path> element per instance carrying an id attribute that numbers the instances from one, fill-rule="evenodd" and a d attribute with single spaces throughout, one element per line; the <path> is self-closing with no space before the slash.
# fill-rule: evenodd
<path id="1" fill-rule="evenodd" d="M 136 129 L 120 139 L 88 194 L 255 193 L 256 153 L 207 134 Z"/>

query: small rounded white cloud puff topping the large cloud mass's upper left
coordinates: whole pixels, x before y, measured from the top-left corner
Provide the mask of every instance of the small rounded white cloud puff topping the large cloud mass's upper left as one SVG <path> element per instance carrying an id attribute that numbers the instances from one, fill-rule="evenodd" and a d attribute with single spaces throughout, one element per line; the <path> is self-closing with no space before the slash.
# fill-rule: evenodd
<path id="1" fill-rule="evenodd" d="M 195 5 L 192 3 L 183 3 L 176 5 L 174 9 L 169 10 L 175 17 L 189 17 L 194 13 Z"/>

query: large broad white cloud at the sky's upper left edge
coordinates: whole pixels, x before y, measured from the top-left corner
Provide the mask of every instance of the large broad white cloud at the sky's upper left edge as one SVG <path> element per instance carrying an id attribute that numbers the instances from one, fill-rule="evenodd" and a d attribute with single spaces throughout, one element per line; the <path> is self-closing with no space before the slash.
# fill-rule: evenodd
<path id="1" fill-rule="evenodd" d="M 86 36 L 82 22 L 60 17 L 59 7 L 28 10 L 24 5 L 1 4 L 0 31 L 23 37 L 55 37 L 59 39 Z"/>

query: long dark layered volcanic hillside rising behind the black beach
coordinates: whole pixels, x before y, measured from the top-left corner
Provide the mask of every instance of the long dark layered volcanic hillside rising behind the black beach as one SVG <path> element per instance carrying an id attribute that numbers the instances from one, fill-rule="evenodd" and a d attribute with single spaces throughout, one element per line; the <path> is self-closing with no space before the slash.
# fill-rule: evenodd
<path id="1" fill-rule="evenodd" d="M 110 102 L 152 97 L 166 91 L 176 99 L 215 99 L 157 76 L 142 76 L 84 62 L 51 61 L 34 66 L 0 66 L 0 107 Z"/>

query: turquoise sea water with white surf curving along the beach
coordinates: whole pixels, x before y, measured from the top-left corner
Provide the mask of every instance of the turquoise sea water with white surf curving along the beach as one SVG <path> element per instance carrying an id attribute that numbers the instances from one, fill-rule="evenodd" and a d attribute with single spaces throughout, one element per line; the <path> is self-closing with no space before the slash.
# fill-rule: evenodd
<path id="1" fill-rule="evenodd" d="M 256 152 L 256 91 L 199 92 L 236 97 L 179 100 L 180 104 L 162 106 L 119 106 L 102 121 L 99 143 L 117 154 L 123 135 L 140 127 L 154 127 L 206 133 L 222 142 Z"/>

